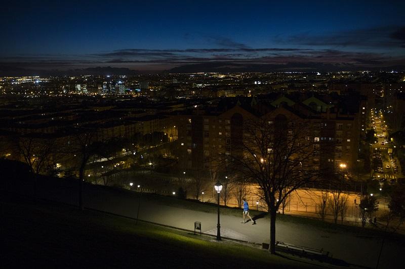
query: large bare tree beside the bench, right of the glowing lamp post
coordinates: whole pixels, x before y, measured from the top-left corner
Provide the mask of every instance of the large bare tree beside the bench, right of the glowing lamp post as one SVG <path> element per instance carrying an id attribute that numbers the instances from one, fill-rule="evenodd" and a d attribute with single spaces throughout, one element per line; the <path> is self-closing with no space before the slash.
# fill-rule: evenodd
<path id="1" fill-rule="evenodd" d="M 285 112 L 285 111 L 284 111 Z M 314 139 L 312 123 L 295 115 L 271 113 L 243 124 L 242 139 L 232 143 L 226 160 L 234 171 L 252 179 L 270 214 L 270 252 L 275 253 L 275 219 L 282 202 L 306 183 L 320 180 L 319 139 Z M 233 141 L 232 141 L 233 142 Z M 326 150 L 325 144 L 322 148 Z M 315 154 L 316 153 L 316 154 Z"/>

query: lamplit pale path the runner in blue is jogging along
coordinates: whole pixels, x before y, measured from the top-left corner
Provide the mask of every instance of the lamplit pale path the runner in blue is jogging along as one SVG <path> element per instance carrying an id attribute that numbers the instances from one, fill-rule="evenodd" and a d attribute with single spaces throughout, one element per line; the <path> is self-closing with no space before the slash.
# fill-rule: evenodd
<path id="1" fill-rule="evenodd" d="M 29 194 L 32 192 L 30 186 L 29 183 L 19 184 L 18 189 L 14 186 L 14 191 L 18 190 L 23 194 Z M 13 186 L 10 188 L 13 188 Z M 40 197 L 71 204 L 77 202 L 77 182 L 54 180 L 39 189 L 41 190 L 38 193 Z M 94 185 L 86 185 L 85 191 L 84 202 L 88 208 L 136 218 L 140 202 L 140 220 L 188 230 L 193 230 L 194 222 L 198 221 L 201 222 L 204 233 L 216 234 L 217 214 L 216 210 L 212 210 L 209 205 L 207 205 L 207 210 L 196 211 L 193 210 L 193 206 L 201 208 L 201 205 L 193 202 L 188 202 L 187 207 L 189 209 L 184 209 L 170 206 L 170 204 L 163 204 L 161 199 L 156 199 L 153 195 L 144 194 L 139 199 L 139 196 L 130 191 L 120 191 Z M 229 209 L 226 211 L 229 212 Z M 221 232 L 223 236 L 260 244 L 269 242 L 269 219 L 267 217 L 257 219 L 257 224 L 251 225 L 250 221 L 241 224 L 241 210 L 239 215 L 235 216 L 232 213 L 221 214 Z M 351 264 L 373 268 L 376 266 L 381 247 L 380 238 L 366 237 L 349 232 L 334 232 L 333 230 L 314 228 L 306 224 L 282 221 L 276 223 L 276 240 L 298 246 L 324 249 L 329 251 L 334 258 L 345 260 Z M 380 268 L 401 268 L 402 266 L 399 265 L 402 264 L 402 261 L 399 257 L 405 251 L 404 244 L 404 242 L 386 240 Z"/>

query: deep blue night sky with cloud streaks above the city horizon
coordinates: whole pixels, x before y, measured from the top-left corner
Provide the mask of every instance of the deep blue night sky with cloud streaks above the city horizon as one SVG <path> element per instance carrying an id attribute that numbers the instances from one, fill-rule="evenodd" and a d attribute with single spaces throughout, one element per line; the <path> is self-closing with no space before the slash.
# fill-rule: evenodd
<path id="1" fill-rule="evenodd" d="M 405 1 L 328 3 L 7 1 L 0 68 L 405 67 Z"/>

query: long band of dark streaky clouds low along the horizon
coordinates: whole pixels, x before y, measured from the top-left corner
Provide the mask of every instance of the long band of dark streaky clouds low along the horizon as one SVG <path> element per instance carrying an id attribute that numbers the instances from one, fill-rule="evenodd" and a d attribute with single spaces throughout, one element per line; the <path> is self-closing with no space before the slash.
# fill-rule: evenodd
<path id="1" fill-rule="evenodd" d="M 400 39 L 401 31 L 395 32 Z M 138 70 L 168 70 L 182 66 L 212 66 L 218 70 L 256 71 L 277 70 L 371 70 L 392 66 L 405 68 L 404 57 L 387 56 L 378 52 L 313 48 L 190 48 L 139 49 L 125 48 L 82 56 L 50 55 L 0 58 L 0 65 L 14 70 L 72 70 L 89 67 L 117 67 Z M 204 64 L 203 66 L 200 66 Z M 232 68 L 231 68 L 232 66 Z M 234 69 L 236 68 L 237 69 Z M 231 68 L 231 69 L 230 69 Z M 3 70 L 7 70 L 4 69 Z M 230 72 L 230 71 L 229 71 Z"/>

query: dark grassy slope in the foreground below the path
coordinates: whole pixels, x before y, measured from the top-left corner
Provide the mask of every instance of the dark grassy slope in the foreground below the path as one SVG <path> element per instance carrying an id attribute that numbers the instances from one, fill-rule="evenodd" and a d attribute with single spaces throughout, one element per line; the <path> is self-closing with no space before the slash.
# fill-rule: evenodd
<path id="1" fill-rule="evenodd" d="M 212 237 L 0 193 L 3 268 L 314 268 Z"/>

